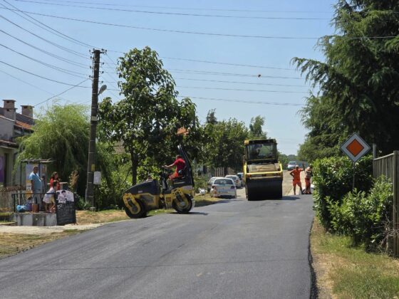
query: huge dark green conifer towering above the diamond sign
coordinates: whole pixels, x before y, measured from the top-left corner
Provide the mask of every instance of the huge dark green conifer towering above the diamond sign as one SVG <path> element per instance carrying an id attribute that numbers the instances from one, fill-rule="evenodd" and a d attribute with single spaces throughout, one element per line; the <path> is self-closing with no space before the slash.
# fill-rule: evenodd
<path id="1" fill-rule="evenodd" d="M 301 151 L 312 159 L 338 154 L 353 132 L 383 153 L 399 148 L 398 9 L 398 1 L 338 0 L 338 35 L 318 42 L 326 61 L 294 58 L 320 89 L 302 110 L 310 132 Z"/>

